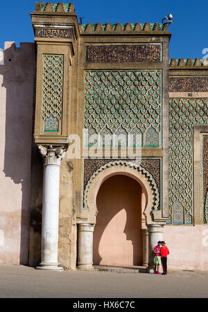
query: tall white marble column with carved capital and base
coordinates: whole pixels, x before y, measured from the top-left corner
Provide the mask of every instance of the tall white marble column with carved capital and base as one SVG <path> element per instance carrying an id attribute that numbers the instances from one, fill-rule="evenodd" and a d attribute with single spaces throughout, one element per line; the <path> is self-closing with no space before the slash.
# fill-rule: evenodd
<path id="1" fill-rule="evenodd" d="M 44 158 L 42 253 L 39 270 L 63 270 L 58 265 L 60 162 L 64 147 L 38 146 Z"/>

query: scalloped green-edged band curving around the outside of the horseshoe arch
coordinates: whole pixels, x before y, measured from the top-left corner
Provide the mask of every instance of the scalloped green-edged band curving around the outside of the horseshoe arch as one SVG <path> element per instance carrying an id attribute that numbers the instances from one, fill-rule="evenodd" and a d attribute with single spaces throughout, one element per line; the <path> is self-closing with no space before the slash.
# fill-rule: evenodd
<path id="1" fill-rule="evenodd" d="M 96 178 L 96 176 L 98 175 L 98 173 L 100 173 L 101 171 L 103 171 L 107 168 L 110 168 L 111 166 L 118 166 L 118 165 L 130 166 L 137 171 L 141 171 L 141 173 L 144 174 L 144 176 L 146 176 L 146 178 L 148 178 L 148 181 L 150 182 L 150 185 L 153 187 L 153 190 L 155 193 L 155 201 L 154 201 L 153 211 L 157 211 L 158 206 L 159 206 L 159 191 L 158 191 L 155 179 L 144 167 L 140 166 L 139 164 L 135 164 L 134 162 L 126 162 L 123 160 L 116 160 L 115 162 L 108 162 L 107 164 L 101 166 L 98 170 L 96 170 L 93 173 L 93 175 L 91 176 L 91 178 L 89 179 L 89 181 L 87 182 L 87 185 L 85 187 L 84 207 L 89 209 L 88 203 L 87 203 L 87 196 L 88 196 L 88 192 L 89 192 L 89 187 L 92 184 L 92 181 L 94 180 L 94 178 Z"/>

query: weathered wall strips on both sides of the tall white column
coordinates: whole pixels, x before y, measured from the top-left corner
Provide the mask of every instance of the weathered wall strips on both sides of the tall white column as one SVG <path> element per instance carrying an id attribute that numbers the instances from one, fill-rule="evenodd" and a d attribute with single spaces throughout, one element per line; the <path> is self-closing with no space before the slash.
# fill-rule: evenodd
<path id="1" fill-rule="evenodd" d="M 43 161 L 38 148 L 33 145 L 30 203 L 29 265 L 41 261 L 42 240 L 42 181 Z M 67 155 L 60 168 L 60 214 L 58 236 L 58 262 L 64 267 L 76 268 L 76 213 L 73 196 L 73 164 Z"/>

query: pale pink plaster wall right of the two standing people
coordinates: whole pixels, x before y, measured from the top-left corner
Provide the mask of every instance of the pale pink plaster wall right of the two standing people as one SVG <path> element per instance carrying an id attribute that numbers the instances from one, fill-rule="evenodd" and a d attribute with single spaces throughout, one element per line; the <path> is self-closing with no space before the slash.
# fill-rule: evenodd
<path id="1" fill-rule="evenodd" d="M 208 270 L 208 226 L 165 226 L 164 240 L 170 269 Z"/>

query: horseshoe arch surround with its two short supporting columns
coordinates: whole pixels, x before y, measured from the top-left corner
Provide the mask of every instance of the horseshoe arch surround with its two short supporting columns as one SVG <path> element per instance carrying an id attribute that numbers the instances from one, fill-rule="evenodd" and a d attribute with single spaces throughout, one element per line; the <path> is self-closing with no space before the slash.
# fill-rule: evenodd
<path id="1" fill-rule="evenodd" d="M 77 267 L 80 270 L 83 270 L 83 269 L 92 270 L 93 256 L 95 256 L 94 258 L 97 259 L 97 261 L 100 261 L 101 263 L 101 255 L 99 255 L 100 259 L 98 258 L 99 248 L 98 248 L 98 251 L 96 251 L 97 254 L 94 254 L 93 252 L 93 249 L 95 248 L 95 246 L 93 245 L 94 227 L 97 224 L 98 208 L 99 208 L 97 207 L 97 199 L 98 199 L 98 206 L 99 206 L 99 201 L 101 201 L 99 197 L 101 196 L 102 198 L 103 196 L 102 193 L 101 194 L 98 194 L 98 193 L 100 189 L 102 192 L 102 185 L 103 187 L 105 187 L 105 181 L 107 181 L 111 177 L 113 178 L 114 176 L 119 176 L 119 175 L 135 180 L 135 182 L 139 184 L 140 187 L 142 188 L 140 217 L 141 217 L 141 227 L 142 227 L 141 231 L 142 231 L 142 237 L 143 237 L 143 265 L 144 266 L 148 265 L 148 270 L 150 270 L 150 268 L 152 268 L 154 265 L 153 248 L 155 247 L 155 244 L 157 244 L 158 240 L 162 240 L 163 226 L 166 222 L 166 218 L 162 216 L 162 210 L 158 209 L 159 208 L 159 190 L 157 188 L 157 184 L 153 176 L 140 164 L 137 164 L 135 162 L 116 160 L 114 162 L 108 162 L 107 164 L 101 166 L 98 170 L 96 170 L 92 174 L 91 178 L 89 179 L 85 187 L 84 198 L 83 198 L 83 210 L 80 214 L 80 219 L 77 220 L 77 224 L 78 224 Z M 110 187 L 108 186 L 108 188 Z M 139 198 L 139 194 L 140 194 L 140 189 L 138 189 L 138 185 L 137 185 L 137 198 Z M 101 203 L 100 205 L 103 205 L 103 203 Z M 105 212 L 105 209 L 104 209 L 105 207 L 104 208 L 100 207 L 100 208 L 101 210 Z M 122 210 L 118 209 L 118 212 L 119 211 L 121 212 L 120 214 L 121 220 L 125 219 L 124 214 L 123 214 L 124 213 L 123 209 Z M 139 214 L 138 214 L 138 217 L 139 217 Z M 105 217 L 104 219 L 105 220 L 110 219 L 110 217 L 108 216 L 107 218 Z M 126 220 L 127 220 L 127 215 L 126 215 Z M 109 223 L 110 222 L 108 222 L 107 224 Z M 110 224 L 110 226 L 112 226 L 112 224 Z M 140 228 L 140 226 L 138 227 Z M 101 233 L 104 232 L 106 228 L 107 228 L 106 225 L 104 225 L 103 226 L 104 230 L 102 230 Z M 125 229 L 125 232 L 126 232 L 126 229 Z M 100 237 L 103 236 L 101 235 L 101 233 L 99 234 Z M 98 246 L 98 242 L 100 242 L 101 240 L 99 240 L 98 236 L 96 237 L 96 240 L 97 240 L 96 244 Z M 125 241 L 126 240 L 128 240 L 128 237 L 125 238 Z M 103 246 L 105 246 L 105 244 L 103 244 Z M 140 262 L 141 258 L 139 256 L 139 251 L 137 251 L 137 253 L 135 254 L 137 254 L 136 258 L 138 262 Z M 132 258 L 134 259 L 134 256 Z M 110 261 L 112 261 L 112 258 Z M 132 261 L 134 263 L 134 260 Z"/>

